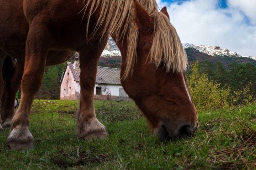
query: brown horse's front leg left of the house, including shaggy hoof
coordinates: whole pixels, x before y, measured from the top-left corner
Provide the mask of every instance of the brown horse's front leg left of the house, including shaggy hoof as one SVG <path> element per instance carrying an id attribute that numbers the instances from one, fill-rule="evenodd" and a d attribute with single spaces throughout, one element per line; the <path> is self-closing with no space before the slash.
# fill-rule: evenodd
<path id="1" fill-rule="evenodd" d="M 26 42 L 26 57 L 21 80 L 21 102 L 12 119 L 7 138 L 7 146 L 15 150 L 34 147 L 34 139 L 29 131 L 29 114 L 36 92 L 41 86 L 46 56 L 50 45 L 49 22 L 34 18 L 30 23 Z"/>

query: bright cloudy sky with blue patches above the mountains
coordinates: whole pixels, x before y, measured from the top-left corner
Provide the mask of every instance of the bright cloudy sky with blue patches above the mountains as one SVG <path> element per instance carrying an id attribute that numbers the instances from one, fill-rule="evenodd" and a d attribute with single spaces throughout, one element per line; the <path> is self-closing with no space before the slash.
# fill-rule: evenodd
<path id="1" fill-rule="evenodd" d="M 156 0 L 182 43 L 220 46 L 256 57 L 256 0 Z"/>

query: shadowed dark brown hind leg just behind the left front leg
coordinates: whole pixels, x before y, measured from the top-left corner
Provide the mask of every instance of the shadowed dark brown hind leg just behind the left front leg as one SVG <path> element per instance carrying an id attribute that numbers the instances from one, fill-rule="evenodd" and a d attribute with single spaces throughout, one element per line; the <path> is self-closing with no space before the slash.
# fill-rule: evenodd
<path id="1" fill-rule="evenodd" d="M 8 96 L 6 99 L 6 106 L 1 115 L 3 127 L 9 127 L 11 125 L 11 120 L 14 117 L 15 96 L 18 89 L 20 89 L 23 69 L 24 69 L 24 63 L 17 62 L 16 67 L 14 69 L 14 75 L 12 76 L 10 81 Z"/>

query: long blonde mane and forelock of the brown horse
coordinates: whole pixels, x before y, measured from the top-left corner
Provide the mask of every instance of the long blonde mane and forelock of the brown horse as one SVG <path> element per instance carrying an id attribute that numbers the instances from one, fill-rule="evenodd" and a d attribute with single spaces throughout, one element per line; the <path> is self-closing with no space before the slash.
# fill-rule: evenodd
<path id="1" fill-rule="evenodd" d="M 138 2 L 148 12 L 149 16 L 155 18 L 154 40 L 148 60 L 153 62 L 156 67 L 159 67 L 160 63 L 164 64 L 167 72 L 183 72 L 186 70 L 187 56 L 169 19 L 162 12 L 158 12 L 155 0 L 138 0 Z M 125 79 L 133 74 L 137 59 L 136 48 L 139 28 L 134 22 L 133 0 L 88 0 L 82 10 L 84 13 L 89 11 L 88 25 L 90 17 L 98 7 L 102 10 L 94 33 L 104 23 L 103 35 L 114 36 L 117 41 L 126 38 L 129 42 L 125 61 L 126 70 L 123 75 Z"/>

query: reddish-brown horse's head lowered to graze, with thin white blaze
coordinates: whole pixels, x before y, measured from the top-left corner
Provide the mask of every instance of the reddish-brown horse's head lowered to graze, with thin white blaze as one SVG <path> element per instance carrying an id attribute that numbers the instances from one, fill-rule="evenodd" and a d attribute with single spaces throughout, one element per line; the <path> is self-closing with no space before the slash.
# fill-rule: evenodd
<path id="1" fill-rule="evenodd" d="M 166 46 L 154 44 L 154 38 L 159 38 L 155 36 L 164 36 L 161 33 L 156 34 L 155 29 L 166 30 L 172 28 L 157 28 L 155 17 L 150 17 L 137 1 L 134 1 L 134 6 L 135 22 L 139 28 L 137 60 L 133 73 L 121 79 L 124 90 L 145 114 L 161 141 L 191 136 L 198 128 L 197 110 L 187 87 L 186 66 L 183 68 L 181 66 L 184 65 L 184 61 L 180 60 L 185 59 L 177 58 L 180 56 L 176 56 L 175 59 L 165 56 L 168 54 L 168 50 L 166 52 L 166 49 L 164 49 Z M 169 17 L 166 8 L 161 10 L 161 15 Z M 168 19 L 167 17 L 166 19 Z M 164 39 L 166 38 L 169 43 L 175 43 L 176 41 L 180 43 L 179 38 L 178 40 L 174 37 L 165 37 Z M 176 47 L 177 45 L 173 44 L 172 50 L 177 54 Z M 158 51 L 153 54 L 153 59 L 150 58 L 152 48 L 157 48 L 155 51 Z M 159 55 L 158 53 L 162 55 L 160 60 L 154 59 L 154 55 Z M 126 67 L 127 63 L 123 63 L 121 77 L 126 74 Z"/>

